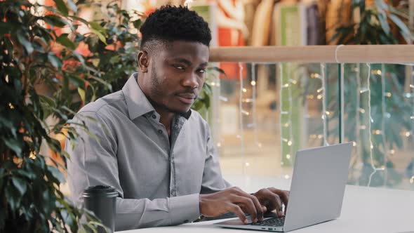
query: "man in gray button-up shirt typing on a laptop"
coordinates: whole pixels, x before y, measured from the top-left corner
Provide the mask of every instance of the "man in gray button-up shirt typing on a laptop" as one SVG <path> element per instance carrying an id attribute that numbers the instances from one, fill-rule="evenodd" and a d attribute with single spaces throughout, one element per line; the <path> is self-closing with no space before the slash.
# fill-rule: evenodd
<path id="1" fill-rule="evenodd" d="M 111 185 L 116 230 L 178 225 L 200 215 L 235 213 L 247 223 L 288 203 L 275 188 L 247 194 L 220 173 L 206 121 L 190 109 L 204 83 L 211 32 L 194 11 L 165 6 L 142 25 L 139 72 L 121 91 L 82 108 L 74 121 L 92 135 L 67 150 L 75 203 L 84 188 Z M 95 120 L 92 120 L 92 119 Z M 98 140 L 96 139 L 98 138 Z"/>

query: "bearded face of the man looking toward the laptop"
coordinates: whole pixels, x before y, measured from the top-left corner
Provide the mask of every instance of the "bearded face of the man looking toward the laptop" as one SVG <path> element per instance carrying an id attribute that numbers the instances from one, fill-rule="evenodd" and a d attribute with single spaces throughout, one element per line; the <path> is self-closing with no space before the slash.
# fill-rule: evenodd
<path id="1" fill-rule="evenodd" d="M 188 112 L 204 84 L 208 46 L 173 41 L 149 54 L 145 94 L 154 107 L 168 112 Z"/>

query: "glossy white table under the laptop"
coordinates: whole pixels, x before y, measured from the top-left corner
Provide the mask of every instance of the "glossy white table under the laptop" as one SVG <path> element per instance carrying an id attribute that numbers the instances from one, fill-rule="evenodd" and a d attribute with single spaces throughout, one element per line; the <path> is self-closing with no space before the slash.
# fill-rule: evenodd
<path id="1" fill-rule="evenodd" d="M 259 187 L 268 187 L 269 183 L 276 183 L 275 179 L 239 179 L 227 178 L 248 192 L 254 192 Z M 252 180 L 258 182 L 251 182 Z M 288 180 L 277 181 L 279 186 L 287 189 Z M 242 229 L 224 229 L 213 226 L 214 222 L 222 220 L 189 223 L 172 227 L 154 227 L 134 229 L 122 233 L 140 232 L 211 232 L 236 233 L 248 232 Z M 256 231 L 253 231 L 256 232 Z M 396 189 L 383 189 L 373 187 L 359 187 L 347 185 L 340 218 L 319 225 L 305 227 L 292 231 L 292 233 L 320 233 L 320 232 L 375 232 L 414 233 L 414 192 Z"/>

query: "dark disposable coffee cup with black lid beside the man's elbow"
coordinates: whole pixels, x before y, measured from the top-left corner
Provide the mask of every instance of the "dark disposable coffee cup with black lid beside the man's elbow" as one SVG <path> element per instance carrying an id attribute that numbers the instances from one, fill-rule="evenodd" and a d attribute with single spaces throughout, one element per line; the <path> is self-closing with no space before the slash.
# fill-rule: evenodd
<path id="1" fill-rule="evenodd" d="M 88 211 L 95 213 L 102 225 L 108 227 L 110 232 L 115 231 L 116 197 L 118 192 L 113 187 L 97 185 L 87 187 L 84 190 L 84 204 Z M 103 227 L 98 227 L 99 233 L 106 232 Z"/>

